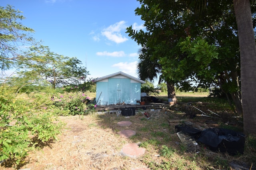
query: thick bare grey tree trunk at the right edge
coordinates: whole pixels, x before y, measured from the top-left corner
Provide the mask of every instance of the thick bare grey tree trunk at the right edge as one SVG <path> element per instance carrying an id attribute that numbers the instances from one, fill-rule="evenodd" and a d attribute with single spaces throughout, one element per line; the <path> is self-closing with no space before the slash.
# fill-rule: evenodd
<path id="1" fill-rule="evenodd" d="M 238 26 L 244 133 L 256 134 L 256 45 L 250 0 L 233 0 Z"/>

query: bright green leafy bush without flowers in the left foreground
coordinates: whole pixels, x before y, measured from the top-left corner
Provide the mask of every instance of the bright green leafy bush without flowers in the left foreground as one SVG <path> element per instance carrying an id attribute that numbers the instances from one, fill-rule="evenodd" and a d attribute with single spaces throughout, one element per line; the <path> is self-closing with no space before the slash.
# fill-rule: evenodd
<path id="1" fill-rule="evenodd" d="M 38 143 L 56 139 L 62 124 L 45 107 L 46 100 L 41 95 L 25 100 L 0 86 L 0 161 L 19 164 Z"/>

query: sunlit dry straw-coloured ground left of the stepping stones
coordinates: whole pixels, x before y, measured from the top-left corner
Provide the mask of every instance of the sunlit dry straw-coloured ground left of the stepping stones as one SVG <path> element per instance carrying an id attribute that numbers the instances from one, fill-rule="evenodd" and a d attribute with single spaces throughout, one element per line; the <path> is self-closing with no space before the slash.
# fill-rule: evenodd
<path id="1" fill-rule="evenodd" d="M 114 116 L 106 114 L 108 119 Z M 136 119 L 136 116 L 132 119 Z M 22 168 L 120 170 L 146 167 L 139 158 L 132 159 L 120 154 L 122 146 L 132 141 L 120 137 L 117 131 L 128 127 L 118 127 L 117 121 L 108 127 L 102 120 L 90 115 L 60 117 L 60 120 L 66 123 L 66 129 L 59 141 L 30 154 L 30 162 Z"/>

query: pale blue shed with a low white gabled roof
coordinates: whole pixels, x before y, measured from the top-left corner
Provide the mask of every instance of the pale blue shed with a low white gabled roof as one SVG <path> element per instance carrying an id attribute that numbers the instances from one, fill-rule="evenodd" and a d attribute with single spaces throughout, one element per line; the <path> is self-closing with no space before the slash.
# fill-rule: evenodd
<path id="1" fill-rule="evenodd" d="M 95 79 L 97 105 L 135 105 L 140 100 L 140 86 L 145 82 L 124 72 Z"/>

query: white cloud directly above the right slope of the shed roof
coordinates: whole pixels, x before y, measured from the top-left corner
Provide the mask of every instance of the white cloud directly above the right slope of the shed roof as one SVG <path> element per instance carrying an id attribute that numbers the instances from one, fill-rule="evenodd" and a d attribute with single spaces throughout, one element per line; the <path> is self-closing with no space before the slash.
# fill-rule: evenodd
<path id="1" fill-rule="evenodd" d="M 134 61 L 132 63 L 120 62 L 120 63 L 113 64 L 112 67 L 117 67 L 122 72 L 124 72 L 126 74 L 129 74 L 129 75 L 134 76 L 134 77 L 138 77 L 137 76 L 137 63 L 138 63 L 138 61 Z"/>

